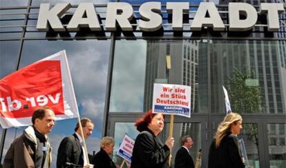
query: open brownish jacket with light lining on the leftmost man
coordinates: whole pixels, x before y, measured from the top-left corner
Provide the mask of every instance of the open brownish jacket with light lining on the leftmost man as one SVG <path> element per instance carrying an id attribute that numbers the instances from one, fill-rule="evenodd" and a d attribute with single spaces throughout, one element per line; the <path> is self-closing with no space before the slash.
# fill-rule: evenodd
<path id="1" fill-rule="evenodd" d="M 48 143 L 48 137 L 46 137 L 46 140 L 47 153 L 42 166 L 44 168 L 50 167 L 52 161 L 52 148 L 50 143 Z M 36 167 L 37 159 L 43 159 L 37 156 L 38 141 L 34 128 L 32 126 L 27 127 L 23 134 L 15 139 L 8 149 L 4 158 L 3 168 Z"/>

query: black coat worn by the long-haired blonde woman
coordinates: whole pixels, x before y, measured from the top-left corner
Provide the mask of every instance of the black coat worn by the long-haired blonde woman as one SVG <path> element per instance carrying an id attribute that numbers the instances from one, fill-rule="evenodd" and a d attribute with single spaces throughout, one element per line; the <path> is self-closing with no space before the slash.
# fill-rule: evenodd
<path id="1" fill-rule="evenodd" d="M 209 147 L 209 168 L 243 168 L 240 150 L 238 147 L 238 139 L 233 134 L 228 133 L 220 146 L 216 148 L 216 140 L 214 139 Z"/>

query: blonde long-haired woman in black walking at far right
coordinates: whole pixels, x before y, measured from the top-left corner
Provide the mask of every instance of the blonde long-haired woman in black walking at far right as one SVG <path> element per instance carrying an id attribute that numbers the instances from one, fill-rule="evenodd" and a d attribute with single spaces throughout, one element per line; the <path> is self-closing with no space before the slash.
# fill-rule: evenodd
<path id="1" fill-rule="evenodd" d="M 237 135 L 242 129 L 242 117 L 230 113 L 218 125 L 216 136 L 209 147 L 209 168 L 245 167 L 238 147 Z"/>

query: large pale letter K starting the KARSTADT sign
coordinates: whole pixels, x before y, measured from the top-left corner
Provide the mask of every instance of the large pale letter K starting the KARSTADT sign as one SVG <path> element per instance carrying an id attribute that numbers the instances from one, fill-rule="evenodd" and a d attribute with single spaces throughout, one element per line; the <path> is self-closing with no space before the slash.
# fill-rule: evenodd
<path id="1" fill-rule="evenodd" d="M 51 9 L 50 3 L 41 3 L 37 21 L 37 29 L 41 31 L 48 31 L 48 23 L 50 23 L 50 28 L 53 28 L 53 30 L 56 32 L 66 31 L 59 18 L 69 8 L 71 8 L 70 3 L 57 3 Z"/>

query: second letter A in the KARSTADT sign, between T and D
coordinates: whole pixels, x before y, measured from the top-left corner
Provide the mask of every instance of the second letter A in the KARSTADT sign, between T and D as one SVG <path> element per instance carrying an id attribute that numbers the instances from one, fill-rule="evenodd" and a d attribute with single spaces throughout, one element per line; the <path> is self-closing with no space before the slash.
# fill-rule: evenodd
<path id="1" fill-rule="evenodd" d="M 209 13 L 209 17 L 205 17 L 207 12 Z M 201 2 L 196 16 L 191 23 L 191 30 L 201 30 L 202 27 L 212 27 L 216 31 L 225 30 L 225 25 L 213 2 Z"/>

